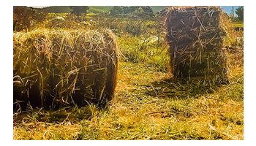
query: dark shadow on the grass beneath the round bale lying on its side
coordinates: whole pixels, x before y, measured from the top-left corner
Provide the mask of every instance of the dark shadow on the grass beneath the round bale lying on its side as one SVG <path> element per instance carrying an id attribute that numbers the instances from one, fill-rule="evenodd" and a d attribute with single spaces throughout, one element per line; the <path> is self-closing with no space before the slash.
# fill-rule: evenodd
<path id="1" fill-rule="evenodd" d="M 45 107 L 32 107 L 31 104 L 26 104 L 26 110 L 13 112 L 13 124 L 54 123 L 58 125 L 73 125 L 74 123 L 80 123 L 82 120 L 91 120 L 102 112 L 108 112 L 108 107 L 108 104 L 102 107 L 88 103 L 83 107 L 73 105 L 60 107 L 59 109 L 48 109 Z"/>

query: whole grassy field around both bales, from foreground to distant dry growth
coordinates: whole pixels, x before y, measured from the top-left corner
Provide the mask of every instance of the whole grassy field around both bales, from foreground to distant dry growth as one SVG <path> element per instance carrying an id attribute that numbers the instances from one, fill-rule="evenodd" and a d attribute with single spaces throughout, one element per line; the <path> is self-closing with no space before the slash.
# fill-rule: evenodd
<path id="1" fill-rule="evenodd" d="M 30 27 L 53 28 L 52 17 Z M 63 17 L 56 29 L 111 28 L 116 34 L 116 96 L 104 108 L 89 104 L 45 110 L 28 105 L 13 112 L 13 139 L 244 139 L 243 38 L 238 42 L 230 34 L 227 39 L 230 84 L 204 86 L 169 78 L 161 18 Z"/>

